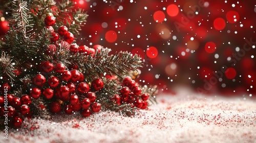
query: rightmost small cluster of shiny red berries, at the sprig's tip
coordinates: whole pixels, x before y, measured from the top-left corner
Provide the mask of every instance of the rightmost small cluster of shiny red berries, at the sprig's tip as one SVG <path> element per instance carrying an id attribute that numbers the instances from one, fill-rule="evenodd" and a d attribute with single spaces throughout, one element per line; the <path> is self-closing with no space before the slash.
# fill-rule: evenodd
<path id="1" fill-rule="evenodd" d="M 148 107 L 147 100 L 150 96 L 148 93 L 142 93 L 139 87 L 131 77 L 125 77 L 122 81 L 120 94 L 116 94 L 113 100 L 116 104 L 131 104 L 133 107 L 146 109 Z"/>

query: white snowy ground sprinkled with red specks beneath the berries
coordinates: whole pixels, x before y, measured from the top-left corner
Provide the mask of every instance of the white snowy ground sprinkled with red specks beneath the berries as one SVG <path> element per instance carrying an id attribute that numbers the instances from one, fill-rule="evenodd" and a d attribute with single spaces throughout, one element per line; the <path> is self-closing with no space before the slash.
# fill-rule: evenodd
<path id="1" fill-rule="evenodd" d="M 0 142 L 256 142 L 256 101 L 182 94 L 133 117 L 100 112 L 88 118 L 33 119 Z"/>

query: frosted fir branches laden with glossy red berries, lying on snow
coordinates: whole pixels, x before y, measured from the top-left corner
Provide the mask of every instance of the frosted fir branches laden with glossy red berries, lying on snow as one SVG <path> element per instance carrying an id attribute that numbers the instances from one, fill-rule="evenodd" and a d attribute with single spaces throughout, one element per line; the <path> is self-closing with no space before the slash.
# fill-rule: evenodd
<path id="1" fill-rule="evenodd" d="M 25 2 L 14 2 L 26 9 Z M 142 64 L 138 55 L 109 55 L 110 49 L 101 45 L 77 45 L 70 25 L 57 26 L 52 13 L 46 14 L 45 26 L 37 35 L 33 29 L 26 30 L 30 16 L 15 8 L 20 9 L 14 7 L 14 13 L 23 16 L 12 21 L 0 45 L 4 51 L 0 58 L 2 122 L 7 118 L 13 127 L 20 127 L 25 118 L 49 118 L 59 112 L 88 117 L 111 110 L 132 115 L 155 100 L 156 88 L 142 87 L 129 76 Z M 22 44 L 13 43 L 14 37 Z M 22 56 L 15 56 L 18 53 Z"/>

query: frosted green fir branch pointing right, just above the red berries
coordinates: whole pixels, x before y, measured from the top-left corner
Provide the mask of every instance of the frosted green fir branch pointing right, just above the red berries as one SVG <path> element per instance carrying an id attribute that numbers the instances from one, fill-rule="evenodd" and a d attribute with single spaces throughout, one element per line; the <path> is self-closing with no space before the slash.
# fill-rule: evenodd
<path id="1" fill-rule="evenodd" d="M 83 73 L 90 76 L 90 73 L 97 73 L 100 76 L 101 73 L 111 75 L 114 73 L 118 74 L 118 71 L 127 74 L 128 70 L 136 70 L 141 67 L 142 62 L 138 55 L 131 56 L 129 52 L 119 52 L 114 55 L 108 55 L 110 49 L 102 49 L 101 52 L 95 54 L 94 57 L 72 57 L 73 60 L 82 67 Z M 79 57 L 79 58 L 78 58 Z"/>

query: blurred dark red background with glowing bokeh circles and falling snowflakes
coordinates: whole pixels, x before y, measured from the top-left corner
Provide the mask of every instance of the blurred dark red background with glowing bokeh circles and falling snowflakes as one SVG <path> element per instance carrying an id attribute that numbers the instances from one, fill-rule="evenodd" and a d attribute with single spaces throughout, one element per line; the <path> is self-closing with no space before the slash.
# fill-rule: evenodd
<path id="1" fill-rule="evenodd" d="M 255 97 L 256 1 L 74 2 L 89 14 L 77 44 L 139 54 L 140 84 Z"/>

